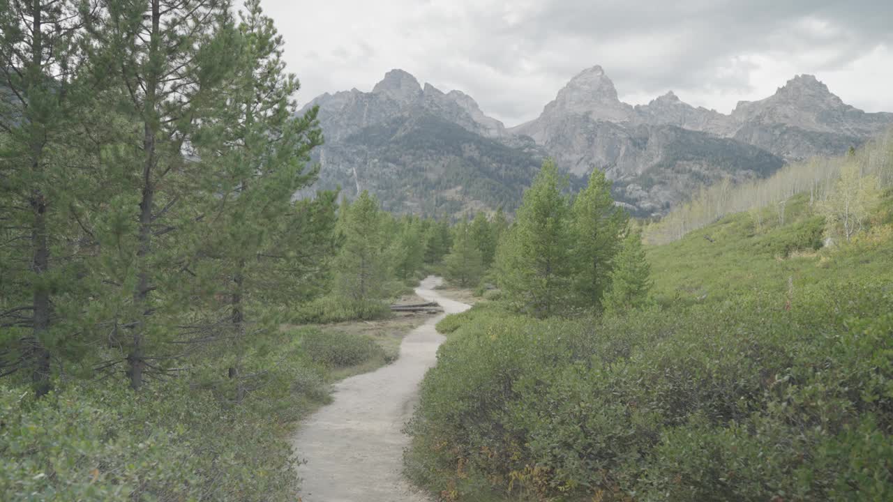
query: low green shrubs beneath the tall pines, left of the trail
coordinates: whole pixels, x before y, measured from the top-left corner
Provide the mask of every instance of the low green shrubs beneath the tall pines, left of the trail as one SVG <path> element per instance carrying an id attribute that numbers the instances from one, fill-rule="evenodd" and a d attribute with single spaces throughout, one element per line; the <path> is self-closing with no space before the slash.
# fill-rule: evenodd
<path id="1" fill-rule="evenodd" d="M 325 373 L 285 342 L 263 388 L 233 406 L 187 381 L 134 394 L 120 381 L 71 385 L 33 401 L 0 393 L 6 500 L 294 500 L 282 436 L 328 399 Z M 47 475 L 52 473 L 52 475 Z"/>

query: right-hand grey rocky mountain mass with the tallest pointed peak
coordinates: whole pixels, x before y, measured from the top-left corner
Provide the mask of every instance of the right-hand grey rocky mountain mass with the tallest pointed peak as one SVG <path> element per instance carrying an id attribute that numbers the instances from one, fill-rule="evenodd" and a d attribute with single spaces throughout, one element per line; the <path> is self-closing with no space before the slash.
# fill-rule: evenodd
<path id="1" fill-rule="evenodd" d="M 723 178 L 766 176 L 785 162 L 842 154 L 891 125 L 893 113 L 846 105 L 810 75 L 726 115 L 672 91 L 632 107 L 595 66 L 571 79 L 537 119 L 509 131 L 530 137 L 568 172 L 605 171 L 615 196 L 645 215 Z"/>

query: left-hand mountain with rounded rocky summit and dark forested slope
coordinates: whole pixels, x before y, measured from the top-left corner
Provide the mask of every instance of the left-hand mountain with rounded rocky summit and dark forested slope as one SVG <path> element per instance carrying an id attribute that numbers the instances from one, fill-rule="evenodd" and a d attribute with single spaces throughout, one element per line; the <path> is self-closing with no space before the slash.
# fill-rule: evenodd
<path id="1" fill-rule="evenodd" d="M 510 137 L 471 96 L 422 88 L 402 70 L 368 93 L 319 96 L 305 111 L 313 105 L 326 138 L 315 153 L 321 187 L 348 197 L 368 189 L 399 213 L 511 210 L 546 155 L 529 138 Z"/>

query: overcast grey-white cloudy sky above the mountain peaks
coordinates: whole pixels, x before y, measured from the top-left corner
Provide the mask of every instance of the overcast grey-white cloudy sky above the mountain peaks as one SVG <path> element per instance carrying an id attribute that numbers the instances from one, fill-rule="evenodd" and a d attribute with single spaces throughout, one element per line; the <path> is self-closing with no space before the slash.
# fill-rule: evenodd
<path id="1" fill-rule="evenodd" d="M 812 73 L 843 100 L 893 112 L 891 0 L 263 0 L 300 103 L 371 90 L 401 68 L 460 89 L 512 126 L 600 64 L 622 100 L 673 90 L 729 113 Z"/>

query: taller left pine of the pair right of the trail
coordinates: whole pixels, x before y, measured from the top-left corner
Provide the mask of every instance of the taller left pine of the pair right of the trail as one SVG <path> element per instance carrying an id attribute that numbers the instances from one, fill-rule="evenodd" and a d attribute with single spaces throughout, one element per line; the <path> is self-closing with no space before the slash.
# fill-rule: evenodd
<path id="1" fill-rule="evenodd" d="M 573 268 L 566 186 L 555 163 L 544 162 L 497 249 L 497 283 L 505 298 L 538 317 L 560 313 L 569 300 Z"/>

